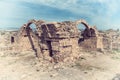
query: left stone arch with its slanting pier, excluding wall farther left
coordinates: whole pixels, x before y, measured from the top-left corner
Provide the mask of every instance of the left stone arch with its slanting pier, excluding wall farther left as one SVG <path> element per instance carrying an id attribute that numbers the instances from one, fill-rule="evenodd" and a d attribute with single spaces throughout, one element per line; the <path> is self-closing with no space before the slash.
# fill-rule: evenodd
<path id="1" fill-rule="evenodd" d="M 40 25 L 42 23 L 44 23 L 44 21 L 42 21 L 42 20 L 36 21 L 36 20 L 33 19 L 33 20 L 30 20 L 26 24 L 26 27 L 25 27 L 27 34 L 32 34 L 32 36 L 31 35 L 28 36 L 28 39 L 31 42 L 32 49 L 35 51 L 37 57 L 42 56 L 41 55 L 42 48 L 41 48 L 41 45 L 40 45 L 40 37 L 41 37 L 41 33 L 42 33 Z M 36 32 L 32 31 L 32 29 L 30 27 L 30 25 L 32 25 L 32 24 L 35 25 Z M 28 31 L 27 31 L 27 29 L 28 29 Z M 29 31 L 29 30 L 31 30 L 31 31 Z M 32 39 L 34 39 L 34 41 Z"/>

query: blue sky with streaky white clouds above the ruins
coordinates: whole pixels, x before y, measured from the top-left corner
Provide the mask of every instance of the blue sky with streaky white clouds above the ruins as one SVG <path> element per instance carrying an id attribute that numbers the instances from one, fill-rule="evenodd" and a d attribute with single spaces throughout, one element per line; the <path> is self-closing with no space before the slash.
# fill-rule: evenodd
<path id="1" fill-rule="evenodd" d="M 0 28 L 19 28 L 30 19 L 85 19 L 98 29 L 120 29 L 120 0 L 0 0 Z"/>

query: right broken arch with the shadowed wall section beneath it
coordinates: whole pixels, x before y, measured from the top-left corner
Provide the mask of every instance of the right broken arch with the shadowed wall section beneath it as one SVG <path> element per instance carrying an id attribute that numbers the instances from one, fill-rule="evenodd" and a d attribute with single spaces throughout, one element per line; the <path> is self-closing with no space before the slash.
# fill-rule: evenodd
<path id="1" fill-rule="evenodd" d="M 85 26 L 85 30 L 82 31 L 81 37 L 78 41 L 80 47 L 85 50 L 103 49 L 102 36 L 99 35 L 99 32 L 95 27 L 89 26 L 84 20 L 78 20 L 76 23 Z"/>

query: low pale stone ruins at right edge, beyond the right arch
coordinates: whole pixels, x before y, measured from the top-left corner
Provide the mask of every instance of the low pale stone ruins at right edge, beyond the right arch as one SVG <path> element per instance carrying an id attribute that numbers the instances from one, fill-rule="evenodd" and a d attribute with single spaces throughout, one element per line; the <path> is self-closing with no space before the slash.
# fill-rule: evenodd
<path id="1" fill-rule="evenodd" d="M 120 50 L 120 31 L 109 29 L 100 32 L 103 36 L 103 48 L 105 50 Z"/>

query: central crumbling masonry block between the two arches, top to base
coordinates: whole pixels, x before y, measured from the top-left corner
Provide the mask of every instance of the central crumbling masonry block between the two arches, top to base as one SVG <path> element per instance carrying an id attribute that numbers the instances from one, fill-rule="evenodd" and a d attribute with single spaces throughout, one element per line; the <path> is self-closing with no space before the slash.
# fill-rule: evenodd
<path id="1" fill-rule="evenodd" d="M 55 62 L 69 60 L 68 58 L 72 57 L 75 51 L 76 54 L 80 52 L 78 49 L 79 33 L 74 22 L 44 23 L 41 28 L 50 56 Z"/>

